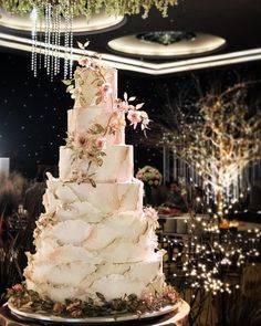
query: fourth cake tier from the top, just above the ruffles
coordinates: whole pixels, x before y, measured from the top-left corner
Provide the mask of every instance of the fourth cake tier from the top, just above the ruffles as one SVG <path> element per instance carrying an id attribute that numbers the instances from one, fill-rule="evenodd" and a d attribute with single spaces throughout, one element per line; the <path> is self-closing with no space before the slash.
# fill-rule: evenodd
<path id="1" fill-rule="evenodd" d="M 49 180 L 48 189 L 43 196 L 43 203 L 48 213 L 64 214 L 73 210 L 75 204 L 86 202 L 92 212 L 85 212 L 90 219 L 101 220 L 103 215 L 114 212 L 142 211 L 143 209 L 143 182 L 133 179 L 132 182 L 97 183 L 96 188 L 91 183 L 62 182 Z M 94 212 L 97 214 L 93 214 Z"/>

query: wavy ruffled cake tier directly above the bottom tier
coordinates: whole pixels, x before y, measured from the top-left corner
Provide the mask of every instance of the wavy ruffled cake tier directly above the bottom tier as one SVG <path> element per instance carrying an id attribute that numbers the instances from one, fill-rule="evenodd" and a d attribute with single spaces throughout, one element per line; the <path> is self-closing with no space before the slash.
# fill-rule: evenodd
<path id="1" fill-rule="evenodd" d="M 60 246 L 80 246 L 98 262 L 138 262 L 154 255 L 157 238 L 152 221 L 137 211 L 114 213 L 104 218 L 102 223 L 87 222 L 86 219 L 71 219 L 40 228 L 35 239 L 36 257 L 55 255 Z M 41 221 L 41 219 L 40 219 Z M 125 231 L 123 233 L 123 229 Z M 58 257 L 59 260 L 59 257 Z"/>

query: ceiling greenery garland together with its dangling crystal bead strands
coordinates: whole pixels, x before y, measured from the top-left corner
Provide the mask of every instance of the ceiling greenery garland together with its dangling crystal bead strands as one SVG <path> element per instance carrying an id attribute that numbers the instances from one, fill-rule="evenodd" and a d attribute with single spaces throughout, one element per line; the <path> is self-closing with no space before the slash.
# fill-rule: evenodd
<path id="1" fill-rule="evenodd" d="M 32 21 L 32 60 L 34 76 L 38 69 L 45 67 L 48 75 L 60 73 L 63 59 L 64 78 L 72 77 L 73 19 L 105 10 L 108 15 L 142 13 L 148 15 L 155 7 L 164 17 L 168 7 L 178 0 L 0 0 L 0 7 L 8 13 L 30 14 Z"/>

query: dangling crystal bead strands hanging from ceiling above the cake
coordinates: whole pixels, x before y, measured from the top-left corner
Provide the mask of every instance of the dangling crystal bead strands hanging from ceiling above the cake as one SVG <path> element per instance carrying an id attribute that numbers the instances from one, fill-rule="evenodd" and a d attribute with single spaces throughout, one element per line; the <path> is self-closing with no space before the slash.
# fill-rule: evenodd
<path id="1" fill-rule="evenodd" d="M 60 73 L 61 57 L 63 57 L 64 78 L 72 77 L 74 2 L 74 0 L 34 2 L 31 11 L 31 69 L 34 76 L 38 69 L 43 65 L 52 80 L 53 75 Z"/>

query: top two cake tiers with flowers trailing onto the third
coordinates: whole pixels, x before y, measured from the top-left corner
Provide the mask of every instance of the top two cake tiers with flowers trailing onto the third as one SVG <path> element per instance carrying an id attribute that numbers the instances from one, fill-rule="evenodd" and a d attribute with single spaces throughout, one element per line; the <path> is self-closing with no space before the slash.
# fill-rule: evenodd
<path id="1" fill-rule="evenodd" d="M 67 138 L 65 148 L 74 162 L 72 180 L 95 183 L 91 166 L 101 167 L 105 150 L 109 146 L 125 144 L 126 120 L 136 128 L 147 128 L 148 115 L 142 111 L 143 103 L 136 104 L 135 96 L 117 98 L 117 71 L 102 65 L 101 60 L 82 57 L 74 72 L 74 80 L 63 81 L 66 92 L 75 99 L 69 111 Z M 121 159 L 124 158 L 121 157 Z M 108 158 L 108 159 L 113 159 Z M 86 170 L 80 166 L 86 165 Z"/>

